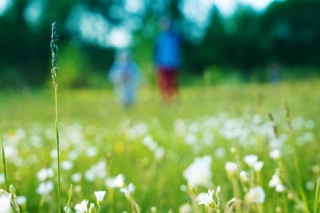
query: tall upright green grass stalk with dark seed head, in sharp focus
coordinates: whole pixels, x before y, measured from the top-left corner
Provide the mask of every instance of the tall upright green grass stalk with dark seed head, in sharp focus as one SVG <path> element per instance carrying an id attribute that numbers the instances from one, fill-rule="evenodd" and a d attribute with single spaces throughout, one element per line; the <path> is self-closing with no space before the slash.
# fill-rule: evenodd
<path id="1" fill-rule="evenodd" d="M 58 213 L 61 213 L 61 203 L 60 203 L 60 148 L 59 148 L 59 133 L 58 133 L 58 84 L 56 82 L 56 73 L 58 72 L 58 40 L 59 36 L 56 33 L 56 22 L 52 23 L 52 33 L 51 33 L 51 55 L 52 55 L 52 70 L 51 77 L 53 80 L 54 87 L 54 97 L 56 99 L 56 146 L 57 146 L 57 160 L 58 160 Z"/>

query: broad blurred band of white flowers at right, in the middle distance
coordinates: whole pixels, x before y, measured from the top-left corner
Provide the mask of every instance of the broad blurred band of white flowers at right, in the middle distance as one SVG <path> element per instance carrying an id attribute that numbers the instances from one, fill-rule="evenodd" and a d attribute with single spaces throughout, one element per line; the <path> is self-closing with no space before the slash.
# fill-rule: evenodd
<path id="1" fill-rule="evenodd" d="M 274 117 L 277 118 L 277 114 Z M 315 126 L 314 121 L 304 121 L 298 117 L 292 119 L 292 126 L 295 130 L 307 130 L 296 137 L 296 145 L 303 146 L 314 140 L 314 133 L 311 132 Z M 192 151 L 195 153 L 199 153 L 202 147 L 215 146 L 217 138 L 238 141 L 240 145 L 252 148 L 255 148 L 258 141 L 269 141 L 269 148 L 272 150 L 282 148 L 289 140 L 287 133 L 276 137 L 272 121 L 259 114 L 254 116 L 245 114 L 243 117 L 232 119 L 227 112 L 222 112 L 216 116 L 203 116 L 191 121 L 176 119 L 174 127 L 175 136 L 182 138 L 187 146 L 192 146 Z"/>

